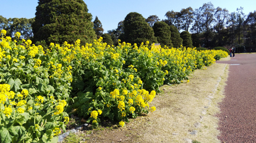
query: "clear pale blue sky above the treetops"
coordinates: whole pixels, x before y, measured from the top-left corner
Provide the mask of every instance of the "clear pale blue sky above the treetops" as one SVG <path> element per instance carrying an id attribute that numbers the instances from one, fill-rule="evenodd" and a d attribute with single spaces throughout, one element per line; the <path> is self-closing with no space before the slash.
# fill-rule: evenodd
<path id="1" fill-rule="evenodd" d="M 138 12 L 144 18 L 157 15 L 162 20 L 166 19 L 164 15 L 167 11 L 177 12 L 189 6 L 195 10 L 208 2 L 211 2 L 214 8 L 226 8 L 229 12 L 243 7 L 243 12 L 246 15 L 256 10 L 256 0 L 84 0 L 84 2 L 88 7 L 88 12 L 93 15 L 93 20 L 98 16 L 104 33 L 117 28 L 119 21 L 124 20 L 130 12 Z M 0 15 L 7 19 L 34 18 L 36 6 L 38 6 L 37 0 L 0 0 L 0 3 Z"/>

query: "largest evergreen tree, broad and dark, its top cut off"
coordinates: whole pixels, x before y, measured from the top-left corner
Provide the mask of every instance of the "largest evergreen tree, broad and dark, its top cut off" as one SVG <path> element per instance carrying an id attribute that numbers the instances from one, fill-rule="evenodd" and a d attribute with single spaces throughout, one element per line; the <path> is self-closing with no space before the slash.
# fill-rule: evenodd
<path id="1" fill-rule="evenodd" d="M 34 41 L 73 44 L 77 39 L 81 44 L 93 42 L 92 15 L 82 0 L 39 0 L 35 22 L 32 24 Z"/>

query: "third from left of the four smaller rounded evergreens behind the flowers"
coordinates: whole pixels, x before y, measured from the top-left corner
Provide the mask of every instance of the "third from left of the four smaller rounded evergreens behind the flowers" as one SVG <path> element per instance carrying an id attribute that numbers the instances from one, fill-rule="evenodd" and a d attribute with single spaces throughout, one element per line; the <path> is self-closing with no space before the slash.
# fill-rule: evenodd
<path id="1" fill-rule="evenodd" d="M 174 25 L 170 26 L 171 40 L 174 47 L 180 47 L 182 45 L 183 39 L 180 38 L 180 33 Z"/>

